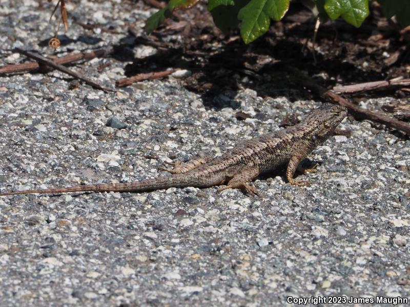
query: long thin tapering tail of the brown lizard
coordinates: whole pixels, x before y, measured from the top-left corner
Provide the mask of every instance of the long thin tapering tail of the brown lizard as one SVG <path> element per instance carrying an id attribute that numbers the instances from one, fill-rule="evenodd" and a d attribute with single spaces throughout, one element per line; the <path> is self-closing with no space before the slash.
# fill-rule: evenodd
<path id="1" fill-rule="evenodd" d="M 69 193 L 69 192 L 143 192 L 168 189 L 171 187 L 183 188 L 188 186 L 207 187 L 212 184 L 204 182 L 203 180 L 192 181 L 187 176 L 182 174 L 174 174 L 173 176 L 163 176 L 155 179 L 146 179 L 130 183 L 114 183 L 114 184 L 87 184 L 77 185 L 68 188 L 55 189 L 33 189 L 23 191 L 9 191 L 0 193 L 0 196 L 14 195 L 14 194 L 33 194 L 33 193 Z"/>

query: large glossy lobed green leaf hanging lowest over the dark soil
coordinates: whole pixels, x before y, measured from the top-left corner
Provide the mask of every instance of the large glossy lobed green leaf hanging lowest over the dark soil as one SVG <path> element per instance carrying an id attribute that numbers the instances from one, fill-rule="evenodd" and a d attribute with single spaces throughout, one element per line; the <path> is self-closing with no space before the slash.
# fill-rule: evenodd
<path id="1" fill-rule="evenodd" d="M 278 21 L 289 9 L 289 0 L 251 0 L 238 14 L 240 34 L 250 43 L 268 31 L 271 18 Z"/>

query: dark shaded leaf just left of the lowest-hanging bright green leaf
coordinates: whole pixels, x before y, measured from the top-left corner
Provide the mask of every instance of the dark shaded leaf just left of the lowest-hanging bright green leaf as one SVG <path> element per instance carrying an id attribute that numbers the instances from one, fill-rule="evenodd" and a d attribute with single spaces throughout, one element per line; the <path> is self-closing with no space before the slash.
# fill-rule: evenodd
<path id="1" fill-rule="evenodd" d="M 248 3 L 249 0 L 235 0 L 233 7 L 220 5 L 211 11 L 215 25 L 222 31 L 223 34 L 228 34 L 229 31 L 238 27 L 239 10 Z"/>

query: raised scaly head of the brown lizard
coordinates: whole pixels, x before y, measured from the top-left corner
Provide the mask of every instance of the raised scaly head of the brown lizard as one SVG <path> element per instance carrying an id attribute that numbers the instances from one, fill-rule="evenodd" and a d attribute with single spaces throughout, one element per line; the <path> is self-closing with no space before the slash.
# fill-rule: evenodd
<path id="1" fill-rule="evenodd" d="M 326 103 L 312 111 L 304 122 L 309 127 L 312 141 L 317 145 L 329 138 L 335 128 L 346 117 L 344 106 Z"/>

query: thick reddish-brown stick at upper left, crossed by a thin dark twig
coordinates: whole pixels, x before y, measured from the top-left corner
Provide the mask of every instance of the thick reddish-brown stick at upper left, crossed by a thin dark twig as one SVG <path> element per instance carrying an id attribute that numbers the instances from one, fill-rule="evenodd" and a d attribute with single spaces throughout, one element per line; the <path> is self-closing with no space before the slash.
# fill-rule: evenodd
<path id="1" fill-rule="evenodd" d="M 91 60 L 96 57 L 104 57 L 110 54 L 114 53 L 114 48 L 113 47 L 106 47 L 106 48 L 101 48 L 97 49 L 91 52 L 80 52 L 80 53 L 75 53 L 75 54 L 70 54 L 64 57 L 56 58 L 53 60 L 54 63 L 60 64 L 60 65 L 66 65 L 70 64 L 76 61 L 80 60 Z M 40 65 L 38 62 L 24 62 L 22 64 L 11 64 L 11 65 L 5 65 L 3 67 L 0 67 L 0 74 L 13 74 L 13 73 L 22 73 L 22 72 L 30 72 L 30 71 L 35 71 L 40 68 Z"/>

